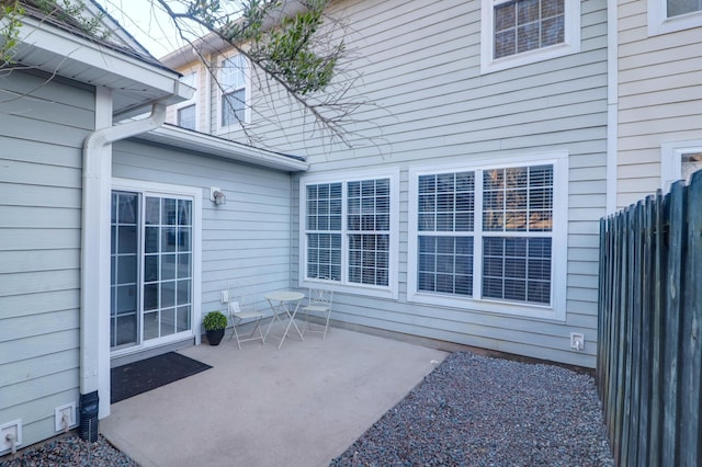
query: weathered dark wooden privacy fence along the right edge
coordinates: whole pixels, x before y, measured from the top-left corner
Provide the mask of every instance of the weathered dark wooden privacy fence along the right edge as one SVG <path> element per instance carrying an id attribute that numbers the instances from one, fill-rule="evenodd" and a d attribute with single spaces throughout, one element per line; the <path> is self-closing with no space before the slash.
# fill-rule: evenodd
<path id="1" fill-rule="evenodd" d="M 702 171 L 600 221 L 598 390 L 618 466 L 700 466 Z"/>

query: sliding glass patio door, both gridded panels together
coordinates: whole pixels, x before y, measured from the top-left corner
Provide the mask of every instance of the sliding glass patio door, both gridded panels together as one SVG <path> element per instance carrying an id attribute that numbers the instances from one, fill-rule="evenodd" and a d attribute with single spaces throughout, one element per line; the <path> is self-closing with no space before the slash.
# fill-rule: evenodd
<path id="1" fill-rule="evenodd" d="M 192 329 L 193 201 L 113 192 L 112 350 Z"/>

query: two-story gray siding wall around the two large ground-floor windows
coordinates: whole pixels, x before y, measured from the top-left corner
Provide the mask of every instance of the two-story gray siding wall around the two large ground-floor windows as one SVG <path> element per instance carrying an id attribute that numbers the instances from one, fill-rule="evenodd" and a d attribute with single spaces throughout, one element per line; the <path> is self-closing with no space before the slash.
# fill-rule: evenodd
<path id="1" fill-rule="evenodd" d="M 598 220 L 605 214 L 607 185 L 607 2 L 570 4 L 581 9 L 578 53 L 482 73 L 482 2 L 335 2 L 335 12 L 349 19 L 346 43 L 354 52 L 349 68 L 360 72 L 354 92 L 373 103 L 361 106 L 347 126 L 352 147 L 321 139 L 299 109 L 275 107 L 275 102 L 288 102 L 278 99 L 275 88 L 258 95 L 253 87 L 249 128 L 265 147 L 306 156 L 310 170 L 303 178 L 333 180 L 365 170 L 397 174 L 396 283 L 386 296 L 338 288 L 335 319 L 595 366 Z M 242 133 L 228 137 L 246 139 Z M 565 240 L 557 253 L 567 263 L 555 278 L 556 293 L 565 298 L 555 318 L 510 314 L 509 305 L 486 310 L 480 304 L 445 306 L 412 298 L 414 174 L 554 153 L 567 155 L 561 192 L 567 220 L 558 227 Z M 298 217 L 295 223 L 298 277 Z M 569 348 L 570 332 L 585 333 L 585 350 Z"/>

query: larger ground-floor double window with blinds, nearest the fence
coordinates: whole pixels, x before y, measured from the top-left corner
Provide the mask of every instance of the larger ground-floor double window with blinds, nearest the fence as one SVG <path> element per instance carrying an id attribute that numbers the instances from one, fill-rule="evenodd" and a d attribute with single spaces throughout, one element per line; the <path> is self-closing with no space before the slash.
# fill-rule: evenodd
<path id="1" fill-rule="evenodd" d="M 412 170 L 410 299 L 561 318 L 565 164 Z"/>

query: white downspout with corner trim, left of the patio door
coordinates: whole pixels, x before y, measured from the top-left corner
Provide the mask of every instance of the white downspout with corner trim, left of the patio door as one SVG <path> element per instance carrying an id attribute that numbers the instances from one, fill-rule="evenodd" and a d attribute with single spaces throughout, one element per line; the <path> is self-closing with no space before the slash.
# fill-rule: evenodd
<path id="1" fill-rule="evenodd" d="M 95 91 L 95 127 L 83 144 L 80 259 L 80 394 L 98 391 L 99 418 L 110 414 L 110 229 L 112 144 L 158 128 L 166 105 L 147 118 L 112 125 L 112 92 Z M 109 125 L 109 126 L 107 126 Z"/>

